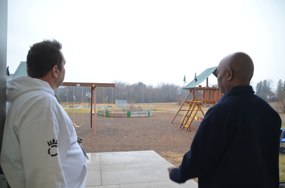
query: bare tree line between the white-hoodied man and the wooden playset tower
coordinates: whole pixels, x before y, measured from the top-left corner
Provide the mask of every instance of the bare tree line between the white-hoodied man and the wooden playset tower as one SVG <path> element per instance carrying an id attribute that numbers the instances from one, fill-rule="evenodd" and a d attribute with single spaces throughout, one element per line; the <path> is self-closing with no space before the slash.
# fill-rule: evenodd
<path id="1" fill-rule="evenodd" d="M 127 84 L 115 81 L 115 88 L 96 88 L 96 103 L 115 103 L 115 100 L 127 100 L 128 103 L 181 102 L 188 95 L 188 90 L 175 84 L 160 83 L 156 87 L 143 82 Z M 90 100 L 90 87 L 61 86 L 55 95 L 61 103 L 86 103 Z"/>

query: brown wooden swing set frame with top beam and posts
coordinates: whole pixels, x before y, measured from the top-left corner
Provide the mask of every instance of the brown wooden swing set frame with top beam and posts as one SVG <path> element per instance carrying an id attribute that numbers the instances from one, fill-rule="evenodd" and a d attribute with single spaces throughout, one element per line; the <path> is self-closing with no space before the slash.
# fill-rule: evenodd
<path id="1" fill-rule="evenodd" d="M 94 114 L 94 121 L 93 121 L 93 134 L 96 135 L 96 113 L 93 113 L 93 111 L 96 111 L 96 87 L 115 87 L 115 84 L 106 84 L 106 83 L 78 83 L 78 82 L 64 82 L 62 86 L 74 86 L 74 87 L 91 87 L 91 118 L 90 118 L 90 127 L 92 128 L 92 114 Z M 93 109 L 94 104 L 94 109 Z"/>

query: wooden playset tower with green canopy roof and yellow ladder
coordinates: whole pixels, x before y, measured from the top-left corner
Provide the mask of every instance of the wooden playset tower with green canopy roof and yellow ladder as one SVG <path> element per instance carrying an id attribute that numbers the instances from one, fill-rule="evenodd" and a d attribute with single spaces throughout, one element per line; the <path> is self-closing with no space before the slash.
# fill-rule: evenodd
<path id="1" fill-rule="evenodd" d="M 182 129 L 186 129 L 187 131 L 190 131 L 191 123 L 193 122 L 194 119 L 196 120 L 198 119 L 196 117 L 197 113 L 200 111 L 202 116 L 203 117 L 205 116 L 204 111 L 202 109 L 202 104 L 214 105 L 218 102 L 218 100 L 223 95 L 220 92 L 220 88 L 208 87 L 208 77 L 212 73 L 214 74 L 215 77 L 217 77 L 216 70 L 217 67 L 207 68 L 198 77 L 195 76 L 195 79 L 183 88 L 189 90 L 189 94 L 187 95 L 186 99 L 180 106 L 179 110 L 177 111 L 171 123 L 173 123 L 173 121 L 175 120 L 180 111 L 185 111 L 179 127 Z M 206 80 L 206 87 L 202 86 L 196 87 L 205 80 Z M 189 100 L 191 94 L 193 95 L 193 97 L 191 100 Z M 186 109 L 182 109 L 184 104 L 186 105 Z"/>

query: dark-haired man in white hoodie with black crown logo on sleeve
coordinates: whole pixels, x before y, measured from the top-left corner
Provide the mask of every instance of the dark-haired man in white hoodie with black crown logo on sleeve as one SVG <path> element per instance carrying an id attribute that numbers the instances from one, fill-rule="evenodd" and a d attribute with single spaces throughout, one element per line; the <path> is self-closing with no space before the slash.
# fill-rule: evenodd
<path id="1" fill-rule="evenodd" d="M 34 44 L 27 75 L 7 81 L 1 167 L 13 187 L 84 187 L 86 161 L 54 90 L 65 77 L 58 41 Z"/>

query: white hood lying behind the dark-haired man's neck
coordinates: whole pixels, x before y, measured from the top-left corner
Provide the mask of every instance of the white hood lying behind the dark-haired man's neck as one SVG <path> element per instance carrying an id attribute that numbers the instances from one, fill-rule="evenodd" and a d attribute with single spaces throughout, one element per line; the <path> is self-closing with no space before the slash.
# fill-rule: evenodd
<path id="1" fill-rule="evenodd" d="M 54 96 L 53 89 L 45 81 L 31 77 L 15 77 L 7 81 L 7 102 L 11 102 L 23 93 L 34 90 L 44 90 Z"/>

